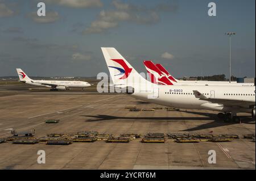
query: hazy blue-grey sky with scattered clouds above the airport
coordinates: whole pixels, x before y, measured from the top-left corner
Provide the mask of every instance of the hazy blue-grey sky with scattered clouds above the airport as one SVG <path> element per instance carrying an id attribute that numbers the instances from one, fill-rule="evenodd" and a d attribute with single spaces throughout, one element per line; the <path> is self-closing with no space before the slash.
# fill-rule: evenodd
<path id="1" fill-rule="evenodd" d="M 255 1 L 0 0 L 0 76 L 96 76 L 108 73 L 100 47 L 115 47 L 137 71 L 143 60 L 175 77 L 229 73 L 255 77 Z M 208 16 L 215 2 L 217 16 Z M 166 53 L 168 56 L 163 56 Z"/>

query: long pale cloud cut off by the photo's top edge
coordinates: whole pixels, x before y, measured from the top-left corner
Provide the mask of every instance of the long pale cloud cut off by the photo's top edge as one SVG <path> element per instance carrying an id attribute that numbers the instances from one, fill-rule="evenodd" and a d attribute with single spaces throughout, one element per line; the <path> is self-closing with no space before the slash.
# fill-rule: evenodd
<path id="1" fill-rule="evenodd" d="M 45 2 L 73 8 L 90 8 L 103 6 L 101 0 L 45 0 Z"/>

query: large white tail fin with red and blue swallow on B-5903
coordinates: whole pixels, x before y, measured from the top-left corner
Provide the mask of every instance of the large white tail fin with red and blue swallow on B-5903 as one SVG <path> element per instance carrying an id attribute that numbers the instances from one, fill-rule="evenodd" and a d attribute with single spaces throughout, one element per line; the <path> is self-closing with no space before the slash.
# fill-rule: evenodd
<path id="1" fill-rule="evenodd" d="M 141 85 L 151 85 L 115 48 L 102 47 L 101 50 L 108 65 L 110 78 L 115 87 L 141 87 Z"/>

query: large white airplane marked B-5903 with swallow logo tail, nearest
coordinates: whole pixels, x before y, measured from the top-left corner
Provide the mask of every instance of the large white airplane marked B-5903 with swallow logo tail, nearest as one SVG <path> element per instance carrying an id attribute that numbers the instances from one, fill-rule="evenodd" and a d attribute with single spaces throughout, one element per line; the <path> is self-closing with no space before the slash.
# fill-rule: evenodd
<path id="1" fill-rule="evenodd" d="M 255 118 L 255 86 L 156 85 L 139 75 L 115 48 L 101 49 L 112 86 L 134 98 L 176 108 L 219 111 L 218 117 L 224 121 L 240 122 L 238 112 Z"/>

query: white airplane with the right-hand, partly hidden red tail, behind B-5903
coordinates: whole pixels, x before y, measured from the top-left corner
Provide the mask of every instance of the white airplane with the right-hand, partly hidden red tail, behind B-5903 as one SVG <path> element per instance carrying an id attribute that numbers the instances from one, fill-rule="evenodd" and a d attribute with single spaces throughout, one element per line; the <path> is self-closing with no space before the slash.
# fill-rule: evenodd
<path id="1" fill-rule="evenodd" d="M 254 83 L 237 83 L 226 81 L 181 81 L 174 78 L 161 64 L 155 64 L 158 68 L 174 85 L 221 85 L 221 86 L 254 86 Z"/>

